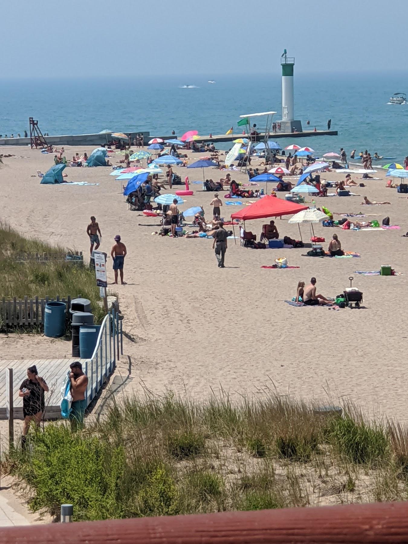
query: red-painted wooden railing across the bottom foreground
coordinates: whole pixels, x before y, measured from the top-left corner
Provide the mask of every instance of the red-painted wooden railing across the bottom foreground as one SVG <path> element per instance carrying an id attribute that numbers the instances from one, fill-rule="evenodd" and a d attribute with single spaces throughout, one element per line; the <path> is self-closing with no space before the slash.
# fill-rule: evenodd
<path id="1" fill-rule="evenodd" d="M 408 542 L 408 502 L 0 528 L 0 544 Z"/>

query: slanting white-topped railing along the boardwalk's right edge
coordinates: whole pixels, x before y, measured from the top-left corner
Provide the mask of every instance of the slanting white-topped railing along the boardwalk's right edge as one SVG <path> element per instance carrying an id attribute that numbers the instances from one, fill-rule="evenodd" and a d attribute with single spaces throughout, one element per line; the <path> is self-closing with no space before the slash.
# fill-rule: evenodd
<path id="1" fill-rule="evenodd" d="M 88 406 L 100 391 L 123 354 L 122 349 L 122 321 L 114 308 L 104 317 L 99 331 L 94 354 L 85 361 L 85 374 L 88 376 L 86 388 L 86 406 Z"/>

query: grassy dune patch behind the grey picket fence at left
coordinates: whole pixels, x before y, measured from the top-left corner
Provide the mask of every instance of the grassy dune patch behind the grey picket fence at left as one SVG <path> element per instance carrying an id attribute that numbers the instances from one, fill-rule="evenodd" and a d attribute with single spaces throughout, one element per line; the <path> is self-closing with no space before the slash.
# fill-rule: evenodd
<path id="1" fill-rule="evenodd" d="M 34 238 L 26 238 L 9 225 L 0 223 L 0 299 L 24 298 L 24 296 L 45 298 L 66 298 L 83 296 L 91 301 L 95 323 L 104 317 L 95 274 L 87 267 L 72 265 L 64 261 L 41 264 L 35 261 L 17 262 L 17 257 L 27 254 L 47 253 L 50 256 L 65 256 L 72 250 L 51 246 Z M 0 315 L 0 330 L 2 319 Z M 4 325 L 3 325 L 4 328 Z"/>

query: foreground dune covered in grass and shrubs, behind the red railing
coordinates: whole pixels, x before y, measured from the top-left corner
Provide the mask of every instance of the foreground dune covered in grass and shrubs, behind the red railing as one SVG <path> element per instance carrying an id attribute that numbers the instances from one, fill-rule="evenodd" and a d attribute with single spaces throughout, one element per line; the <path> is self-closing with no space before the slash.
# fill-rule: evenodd
<path id="1" fill-rule="evenodd" d="M 361 417 L 322 418 L 272 395 L 146 394 L 75 435 L 64 423 L 32 430 L 32 447 L 3 464 L 30 508 L 58 515 L 72 503 L 76 520 L 406 499 L 407 430 Z"/>

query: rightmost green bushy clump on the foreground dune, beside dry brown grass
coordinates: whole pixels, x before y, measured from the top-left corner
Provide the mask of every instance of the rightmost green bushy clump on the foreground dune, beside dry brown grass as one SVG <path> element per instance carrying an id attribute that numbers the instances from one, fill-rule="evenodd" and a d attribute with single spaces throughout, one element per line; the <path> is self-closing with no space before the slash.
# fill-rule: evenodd
<path id="1" fill-rule="evenodd" d="M 368 425 L 349 416 L 331 421 L 329 441 L 349 461 L 373 465 L 390 453 L 388 435 L 381 425 Z"/>

